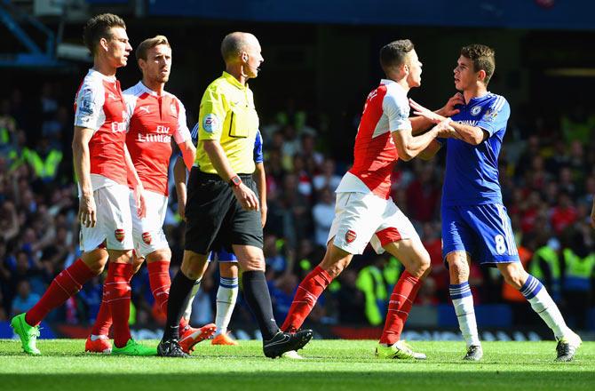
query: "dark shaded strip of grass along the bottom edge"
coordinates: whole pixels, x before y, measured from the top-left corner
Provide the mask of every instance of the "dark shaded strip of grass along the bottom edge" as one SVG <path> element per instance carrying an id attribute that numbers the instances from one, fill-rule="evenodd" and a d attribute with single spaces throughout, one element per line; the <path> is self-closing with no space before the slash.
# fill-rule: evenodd
<path id="1" fill-rule="evenodd" d="M 175 365 L 175 363 L 172 363 Z M 323 363 L 321 363 L 323 365 Z M 142 371 L 139 368 L 139 371 Z M 222 366 L 217 372 L 191 372 L 172 374 L 117 373 L 97 374 L 40 374 L 0 375 L 0 388 L 5 390 L 76 390 L 76 391 L 131 391 L 131 390 L 314 390 L 353 389 L 358 391 L 394 389 L 506 389 L 540 390 L 572 389 L 592 390 L 595 385 L 593 371 L 234 371 Z"/>

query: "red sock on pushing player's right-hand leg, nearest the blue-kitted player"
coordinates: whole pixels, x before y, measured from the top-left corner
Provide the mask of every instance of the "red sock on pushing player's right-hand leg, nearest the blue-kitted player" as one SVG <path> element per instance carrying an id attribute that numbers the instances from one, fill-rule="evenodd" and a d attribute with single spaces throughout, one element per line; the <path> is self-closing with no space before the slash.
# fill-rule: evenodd
<path id="1" fill-rule="evenodd" d="M 385 330 L 382 331 L 382 337 L 380 337 L 381 344 L 393 345 L 401 338 L 401 331 L 403 331 L 403 326 L 421 285 L 422 280 L 410 275 L 407 270 L 394 285 L 393 294 L 391 294 L 391 300 L 388 303 Z"/>

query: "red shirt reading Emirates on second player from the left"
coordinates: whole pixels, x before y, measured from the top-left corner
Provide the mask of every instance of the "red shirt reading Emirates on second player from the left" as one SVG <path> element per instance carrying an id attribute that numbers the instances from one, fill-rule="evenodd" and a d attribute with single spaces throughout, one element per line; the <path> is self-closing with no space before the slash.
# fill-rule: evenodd
<path id="1" fill-rule="evenodd" d="M 159 95 L 142 82 L 123 95 L 130 115 L 126 145 L 132 163 L 145 190 L 167 196 L 171 138 L 177 144 L 190 140 L 186 109 L 171 93 Z"/>

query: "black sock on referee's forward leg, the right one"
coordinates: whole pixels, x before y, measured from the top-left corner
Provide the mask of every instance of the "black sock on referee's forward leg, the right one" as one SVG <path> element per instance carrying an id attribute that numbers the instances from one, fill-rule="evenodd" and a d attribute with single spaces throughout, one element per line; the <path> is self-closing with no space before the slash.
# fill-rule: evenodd
<path id="1" fill-rule="evenodd" d="M 279 327 L 274 321 L 271 294 L 268 291 L 268 286 L 266 286 L 265 272 L 259 270 L 243 272 L 242 285 L 244 298 L 250 306 L 252 314 L 256 317 L 262 338 L 265 340 L 272 339 L 279 331 Z"/>

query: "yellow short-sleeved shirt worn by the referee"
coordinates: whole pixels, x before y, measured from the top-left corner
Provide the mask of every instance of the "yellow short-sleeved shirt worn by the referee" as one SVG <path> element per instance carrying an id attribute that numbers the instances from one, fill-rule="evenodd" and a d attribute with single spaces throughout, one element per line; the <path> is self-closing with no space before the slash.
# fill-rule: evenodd
<path id="1" fill-rule="evenodd" d="M 254 172 L 254 140 L 258 114 L 248 84 L 223 72 L 202 95 L 198 116 L 196 162 L 202 172 L 217 173 L 204 151 L 204 140 L 219 140 L 236 173 Z"/>

